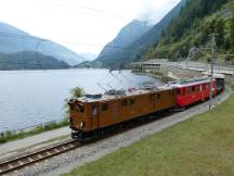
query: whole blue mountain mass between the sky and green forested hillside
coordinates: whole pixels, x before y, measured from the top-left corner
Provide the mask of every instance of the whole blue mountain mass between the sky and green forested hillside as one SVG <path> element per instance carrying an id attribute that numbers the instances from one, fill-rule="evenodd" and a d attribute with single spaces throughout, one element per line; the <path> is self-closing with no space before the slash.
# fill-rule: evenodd
<path id="1" fill-rule="evenodd" d="M 154 26 L 147 26 L 143 29 L 143 25 L 130 23 L 134 29 L 134 37 L 131 37 L 131 32 L 128 30 L 128 26 L 123 27 L 117 38 L 109 42 L 104 50 L 100 53 L 98 61 L 101 61 L 104 66 L 117 66 L 128 64 L 133 61 L 139 61 L 144 55 L 144 52 L 157 43 L 162 30 L 170 24 L 170 22 L 177 17 L 181 9 L 186 3 L 186 0 L 181 0 L 159 23 Z M 141 27 L 141 28 L 140 28 Z M 127 29 L 126 29 L 127 28 Z M 140 33 L 140 35 L 138 34 Z M 125 37 L 127 42 L 118 42 L 119 37 Z M 121 38 L 120 38 L 121 39 Z M 117 40 L 117 41 L 116 41 Z M 120 40 L 121 41 L 121 40 Z M 113 48 L 115 45 L 120 48 Z"/>

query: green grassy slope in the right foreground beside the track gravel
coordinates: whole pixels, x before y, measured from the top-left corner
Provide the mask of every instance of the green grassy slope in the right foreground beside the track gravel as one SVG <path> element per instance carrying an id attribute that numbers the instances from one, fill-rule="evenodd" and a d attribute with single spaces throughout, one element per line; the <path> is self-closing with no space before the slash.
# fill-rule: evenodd
<path id="1" fill-rule="evenodd" d="M 65 176 L 233 176 L 234 95 L 210 112 L 174 125 Z"/>

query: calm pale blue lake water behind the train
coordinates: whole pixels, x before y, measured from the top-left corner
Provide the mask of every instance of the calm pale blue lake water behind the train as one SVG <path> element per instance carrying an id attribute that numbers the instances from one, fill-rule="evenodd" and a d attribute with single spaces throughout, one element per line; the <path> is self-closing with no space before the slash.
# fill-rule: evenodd
<path id="1" fill-rule="evenodd" d="M 130 71 L 64 70 L 0 72 L 0 131 L 34 126 L 64 114 L 64 99 L 74 87 L 82 87 L 87 93 L 104 92 L 104 88 L 142 87 L 161 83 L 148 76 L 134 75 Z"/>

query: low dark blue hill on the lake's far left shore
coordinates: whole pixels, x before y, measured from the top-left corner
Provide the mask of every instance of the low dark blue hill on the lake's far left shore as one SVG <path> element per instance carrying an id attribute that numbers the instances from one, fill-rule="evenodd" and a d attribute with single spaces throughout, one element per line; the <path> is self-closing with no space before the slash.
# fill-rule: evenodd
<path id="1" fill-rule="evenodd" d="M 0 71 L 69 68 L 64 61 L 35 51 L 0 53 Z"/>

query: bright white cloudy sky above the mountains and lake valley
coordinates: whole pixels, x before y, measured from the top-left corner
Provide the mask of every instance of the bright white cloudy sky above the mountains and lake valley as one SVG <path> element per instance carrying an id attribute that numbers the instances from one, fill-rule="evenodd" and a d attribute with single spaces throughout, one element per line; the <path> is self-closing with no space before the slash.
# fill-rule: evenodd
<path id="1" fill-rule="evenodd" d="M 0 21 L 77 53 L 99 54 L 133 18 L 155 24 L 179 1 L 0 0 Z"/>

